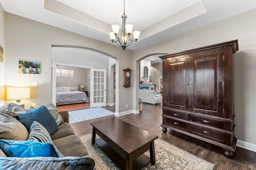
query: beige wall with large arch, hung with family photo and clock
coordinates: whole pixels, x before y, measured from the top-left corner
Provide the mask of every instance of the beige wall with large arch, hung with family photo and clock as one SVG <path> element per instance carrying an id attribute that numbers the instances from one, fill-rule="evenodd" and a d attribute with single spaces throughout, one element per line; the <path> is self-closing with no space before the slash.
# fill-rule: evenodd
<path id="1" fill-rule="evenodd" d="M 84 37 L 69 31 L 65 31 L 50 25 L 22 18 L 14 14 L 5 13 L 6 39 L 6 69 L 5 86 L 32 86 L 32 81 L 38 81 L 38 87 L 31 87 L 31 98 L 23 100 L 25 107 L 29 108 L 32 103 L 38 105 L 48 104 L 52 100 L 52 68 L 51 50 L 52 45 L 74 45 L 94 49 L 109 57 L 117 59 L 116 69 L 118 74 L 116 92 L 117 113 L 132 113 L 132 88 L 123 87 L 123 70 L 132 67 L 132 51 L 123 51 L 120 47 L 103 43 L 95 39 Z M 106 37 L 108 38 L 108 37 Z M 42 72 L 39 75 L 19 74 L 19 59 L 41 61 Z M 78 61 L 80 65 L 86 65 Z M 125 98 L 123 96 L 126 96 Z M 118 100 L 122 98 L 122 100 Z M 13 102 L 6 100 L 5 102 Z M 128 108 L 125 105 L 128 104 Z"/>

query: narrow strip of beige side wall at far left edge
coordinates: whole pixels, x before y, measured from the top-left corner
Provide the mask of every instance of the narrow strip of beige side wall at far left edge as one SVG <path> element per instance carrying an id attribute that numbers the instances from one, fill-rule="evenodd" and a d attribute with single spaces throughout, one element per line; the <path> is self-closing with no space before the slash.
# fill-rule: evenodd
<path id="1" fill-rule="evenodd" d="M 5 67 L 5 29 L 4 29 L 4 9 L 0 4 L 0 45 L 4 48 L 4 60 L 0 62 L 0 106 L 4 104 L 4 67 Z"/>

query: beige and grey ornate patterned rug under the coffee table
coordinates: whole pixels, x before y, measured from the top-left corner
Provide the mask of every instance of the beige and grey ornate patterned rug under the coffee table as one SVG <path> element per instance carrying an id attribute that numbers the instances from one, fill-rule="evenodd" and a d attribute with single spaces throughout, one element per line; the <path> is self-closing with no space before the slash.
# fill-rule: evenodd
<path id="1" fill-rule="evenodd" d="M 96 139 L 98 139 L 96 135 Z M 93 156 L 102 170 L 120 170 L 114 162 L 98 147 L 91 145 L 92 134 L 80 137 L 88 154 Z M 212 170 L 214 164 L 207 162 L 161 139 L 154 141 L 156 164 L 148 163 L 142 170 Z M 145 152 L 149 156 L 149 151 Z"/>

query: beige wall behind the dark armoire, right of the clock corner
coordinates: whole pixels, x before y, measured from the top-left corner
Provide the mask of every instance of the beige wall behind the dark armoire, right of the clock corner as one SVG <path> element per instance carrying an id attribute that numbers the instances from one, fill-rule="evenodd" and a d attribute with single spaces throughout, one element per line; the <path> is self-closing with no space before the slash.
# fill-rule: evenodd
<path id="1" fill-rule="evenodd" d="M 149 53 L 176 53 L 238 39 L 234 54 L 235 136 L 256 145 L 256 10 L 219 21 L 134 51 L 134 68 Z M 133 68 L 133 69 L 134 69 Z M 138 75 L 138 72 L 136 73 Z M 138 81 L 139 79 L 137 79 Z M 134 87 L 135 89 L 135 87 Z M 134 90 L 136 91 L 136 90 Z"/>

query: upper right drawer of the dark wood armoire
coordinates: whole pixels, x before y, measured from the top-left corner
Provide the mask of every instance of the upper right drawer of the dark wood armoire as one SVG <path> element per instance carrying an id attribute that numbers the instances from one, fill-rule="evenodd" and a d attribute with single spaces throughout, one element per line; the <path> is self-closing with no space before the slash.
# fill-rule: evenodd
<path id="1" fill-rule="evenodd" d="M 191 121 L 195 123 L 207 125 L 207 126 L 216 127 L 219 129 L 224 129 L 224 121 L 218 121 L 215 119 L 210 119 L 207 117 L 201 117 L 201 116 L 195 116 L 195 115 L 191 115 Z"/>

